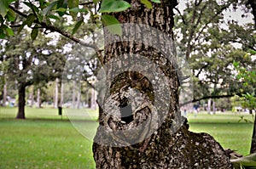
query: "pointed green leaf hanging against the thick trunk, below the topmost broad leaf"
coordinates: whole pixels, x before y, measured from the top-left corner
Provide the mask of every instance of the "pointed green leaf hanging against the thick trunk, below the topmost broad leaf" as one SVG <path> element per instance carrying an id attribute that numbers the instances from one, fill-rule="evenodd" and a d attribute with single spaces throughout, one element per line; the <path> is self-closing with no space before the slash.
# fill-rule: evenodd
<path id="1" fill-rule="evenodd" d="M 119 23 L 119 20 L 117 20 L 113 16 L 108 14 L 102 15 L 102 23 L 103 25 L 108 26 L 107 29 L 112 34 L 117 34 L 119 36 L 122 36 L 122 28 Z"/>

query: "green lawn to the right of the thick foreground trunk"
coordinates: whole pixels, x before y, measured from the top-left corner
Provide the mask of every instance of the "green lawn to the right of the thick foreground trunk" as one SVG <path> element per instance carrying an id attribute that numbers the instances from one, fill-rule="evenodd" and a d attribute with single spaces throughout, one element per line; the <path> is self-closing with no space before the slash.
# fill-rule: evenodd
<path id="1" fill-rule="evenodd" d="M 244 115 L 244 118 L 251 120 L 251 115 Z M 207 132 L 215 138 L 224 149 L 234 149 L 241 155 L 249 155 L 253 133 L 253 123 L 238 122 L 240 115 L 198 114 L 196 117 L 189 114 L 189 130 L 192 132 Z"/>

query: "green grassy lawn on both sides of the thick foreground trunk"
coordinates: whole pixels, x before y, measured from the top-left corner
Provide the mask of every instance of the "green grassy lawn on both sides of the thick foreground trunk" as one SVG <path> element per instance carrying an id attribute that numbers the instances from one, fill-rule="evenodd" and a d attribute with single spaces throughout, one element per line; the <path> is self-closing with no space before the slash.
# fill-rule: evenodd
<path id="1" fill-rule="evenodd" d="M 95 132 L 95 110 L 64 110 L 61 120 L 55 109 L 26 108 L 25 121 L 15 120 L 16 112 L 16 108 L 0 108 L 0 168 L 95 168 L 92 142 L 67 117 L 83 117 L 86 131 Z M 247 155 L 253 124 L 239 119 L 233 114 L 189 114 L 189 126 L 193 132 L 210 133 L 224 149 Z"/>

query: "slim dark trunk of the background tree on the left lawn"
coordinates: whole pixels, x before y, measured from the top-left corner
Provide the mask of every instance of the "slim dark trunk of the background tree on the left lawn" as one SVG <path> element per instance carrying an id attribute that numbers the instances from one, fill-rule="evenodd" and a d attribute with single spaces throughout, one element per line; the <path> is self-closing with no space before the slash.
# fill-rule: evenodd
<path id="1" fill-rule="evenodd" d="M 18 87 L 18 114 L 16 116 L 17 119 L 25 119 L 25 104 L 26 104 L 26 86 L 20 84 Z"/>

